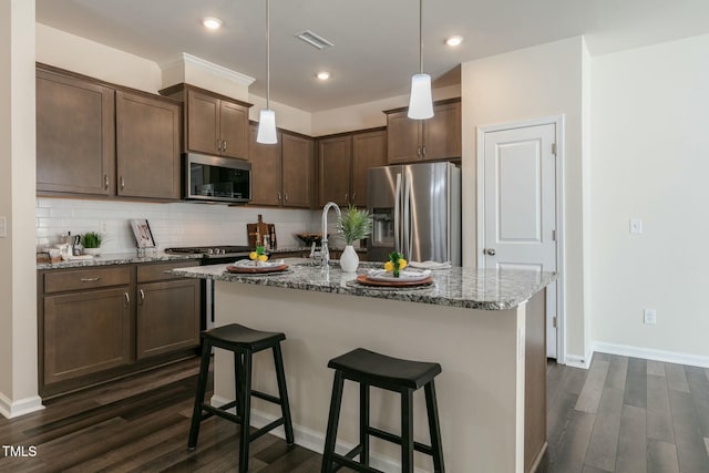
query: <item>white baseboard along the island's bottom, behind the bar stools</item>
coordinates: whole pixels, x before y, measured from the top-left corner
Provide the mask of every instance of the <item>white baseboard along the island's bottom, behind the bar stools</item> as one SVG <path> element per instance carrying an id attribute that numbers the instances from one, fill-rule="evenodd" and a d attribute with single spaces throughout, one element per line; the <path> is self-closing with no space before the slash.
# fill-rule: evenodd
<path id="1" fill-rule="evenodd" d="M 212 405 L 224 405 L 229 401 L 230 400 L 224 399 L 219 395 L 213 395 L 209 402 L 212 403 Z M 269 414 L 267 412 L 263 412 L 256 409 L 251 410 L 251 426 L 255 426 L 256 429 L 260 429 L 264 425 L 269 424 L 276 419 L 277 418 L 275 415 Z M 325 433 L 317 432 L 312 429 L 298 425 L 295 423 L 292 424 L 292 430 L 296 438 L 296 443 L 298 445 L 322 454 L 322 451 L 325 450 Z M 282 426 L 271 430 L 270 433 L 280 439 L 286 438 L 286 432 Z M 354 445 L 352 445 L 351 443 L 338 441 L 335 446 L 335 451 L 343 455 L 350 450 L 352 450 L 353 448 Z M 401 472 L 400 461 L 394 460 L 391 456 L 377 454 L 374 452 L 370 453 L 370 466 L 379 469 L 386 473 Z M 425 470 L 414 467 L 414 472 L 425 473 Z"/>

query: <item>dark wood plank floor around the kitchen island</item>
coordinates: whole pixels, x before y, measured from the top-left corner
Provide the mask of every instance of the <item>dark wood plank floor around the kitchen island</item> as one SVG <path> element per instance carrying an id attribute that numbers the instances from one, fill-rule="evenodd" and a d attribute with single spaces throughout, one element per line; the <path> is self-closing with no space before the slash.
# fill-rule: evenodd
<path id="1" fill-rule="evenodd" d="M 196 374 L 188 360 L 0 417 L 0 445 L 37 449 L 7 456 L 0 446 L 0 472 L 236 471 L 230 422 L 204 421 L 197 449 L 186 448 Z M 709 370 L 597 353 L 589 370 L 549 363 L 547 378 L 542 472 L 709 472 Z M 270 435 L 251 454 L 250 472 L 320 466 L 317 453 Z"/>

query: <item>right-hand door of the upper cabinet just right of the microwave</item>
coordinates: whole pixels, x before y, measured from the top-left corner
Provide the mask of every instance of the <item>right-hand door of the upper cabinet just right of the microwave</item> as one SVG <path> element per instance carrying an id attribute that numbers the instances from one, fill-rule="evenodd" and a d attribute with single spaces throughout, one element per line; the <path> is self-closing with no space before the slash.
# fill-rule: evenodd
<path id="1" fill-rule="evenodd" d="M 312 140 L 284 133 L 281 135 L 284 205 L 312 205 L 314 162 Z"/>

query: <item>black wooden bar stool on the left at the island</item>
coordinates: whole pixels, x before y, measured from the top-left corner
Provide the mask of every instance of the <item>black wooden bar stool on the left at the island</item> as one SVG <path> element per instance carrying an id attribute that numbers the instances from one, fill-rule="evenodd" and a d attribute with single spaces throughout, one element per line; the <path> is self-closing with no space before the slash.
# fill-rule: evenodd
<path id="1" fill-rule="evenodd" d="M 258 439 L 265 433 L 284 425 L 286 430 L 286 443 L 294 443 L 292 422 L 290 420 L 290 408 L 288 405 L 288 391 L 286 390 L 286 376 L 284 373 L 284 360 L 280 352 L 280 341 L 286 336 L 279 332 L 265 332 L 253 330 L 238 323 L 230 323 L 202 332 L 202 363 L 199 366 L 199 380 L 197 381 L 197 393 L 195 395 L 195 409 L 192 414 L 192 425 L 189 426 L 189 440 L 187 446 L 194 450 L 197 446 L 199 435 L 199 424 L 203 420 L 217 415 L 240 425 L 239 434 L 239 473 L 248 471 L 248 448 L 249 442 Z M 222 407 L 215 408 L 204 402 L 204 394 L 207 389 L 207 376 L 209 373 L 209 356 L 212 347 L 229 350 L 234 353 L 234 373 L 236 382 L 236 400 Z M 254 353 L 266 350 L 274 350 L 274 364 L 276 366 L 276 378 L 278 381 L 278 398 L 251 389 L 251 361 Z M 251 395 L 264 399 L 280 405 L 282 417 L 263 426 L 254 433 L 249 432 L 251 417 Z M 227 409 L 236 408 L 236 415 L 226 412 Z M 204 413 L 203 411 L 206 411 Z"/>

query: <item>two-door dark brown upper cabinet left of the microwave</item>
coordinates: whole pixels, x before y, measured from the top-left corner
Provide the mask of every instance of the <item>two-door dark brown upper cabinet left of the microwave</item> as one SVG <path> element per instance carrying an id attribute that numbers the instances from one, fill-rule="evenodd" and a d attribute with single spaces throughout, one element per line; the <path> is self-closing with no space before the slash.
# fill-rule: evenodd
<path id="1" fill-rule="evenodd" d="M 38 65 L 38 194 L 178 199 L 179 117 L 171 99 Z"/>

